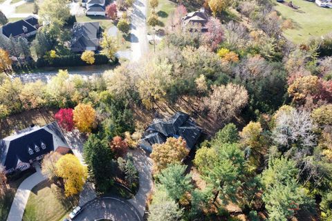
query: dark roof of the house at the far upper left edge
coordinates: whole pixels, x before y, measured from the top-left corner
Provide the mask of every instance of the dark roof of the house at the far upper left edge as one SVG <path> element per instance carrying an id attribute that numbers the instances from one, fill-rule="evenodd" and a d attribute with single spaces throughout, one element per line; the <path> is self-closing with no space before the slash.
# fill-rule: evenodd
<path id="1" fill-rule="evenodd" d="M 27 28 L 27 32 L 26 33 L 30 33 L 33 32 L 35 30 L 37 30 L 37 28 L 35 28 L 33 25 L 31 25 L 28 21 L 33 21 L 33 23 L 35 23 L 35 19 L 28 19 L 27 21 L 25 20 L 19 20 L 19 21 L 15 21 L 13 23 L 8 23 L 6 24 L 6 26 L 3 26 L 2 29 L 2 34 L 5 35 L 6 37 L 10 37 L 10 35 L 12 35 L 12 37 L 17 37 L 19 35 L 23 35 L 24 34 L 24 27 Z M 37 20 L 38 23 L 38 20 Z"/>

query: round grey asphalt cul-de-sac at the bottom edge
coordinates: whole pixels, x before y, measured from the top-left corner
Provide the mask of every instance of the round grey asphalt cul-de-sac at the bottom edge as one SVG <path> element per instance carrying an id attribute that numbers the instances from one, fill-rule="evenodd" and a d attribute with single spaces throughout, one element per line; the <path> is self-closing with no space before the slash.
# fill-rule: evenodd
<path id="1" fill-rule="evenodd" d="M 91 221 L 99 219 L 114 221 L 140 221 L 138 211 L 129 203 L 116 198 L 100 198 L 93 200 L 73 221 Z"/>

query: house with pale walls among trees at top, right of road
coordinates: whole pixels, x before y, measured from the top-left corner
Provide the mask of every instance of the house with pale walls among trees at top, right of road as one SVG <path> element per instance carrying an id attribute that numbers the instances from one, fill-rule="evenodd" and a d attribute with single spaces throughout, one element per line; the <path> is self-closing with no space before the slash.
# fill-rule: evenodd
<path id="1" fill-rule="evenodd" d="M 204 8 L 196 12 L 190 12 L 182 18 L 182 26 L 200 26 L 201 32 L 207 32 L 208 28 L 205 27 L 208 23 L 209 17 L 205 12 Z"/>

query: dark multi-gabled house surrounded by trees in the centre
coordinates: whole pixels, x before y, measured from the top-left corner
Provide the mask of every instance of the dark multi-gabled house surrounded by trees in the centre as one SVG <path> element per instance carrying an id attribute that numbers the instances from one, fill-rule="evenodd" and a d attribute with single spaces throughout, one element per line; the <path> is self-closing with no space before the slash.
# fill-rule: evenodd
<path id="1" fill-rule="evenodd" d="M 167 120 L 154 119 L 143 134 L 140 147 L 151 153 L 152 145 L 163 144 L 167 137 L 183 137 L 187 142 L 188 150 L 191 150 L 199 140 L 202 131 L 190 118 L 190 115 L 178 111 Z"/>

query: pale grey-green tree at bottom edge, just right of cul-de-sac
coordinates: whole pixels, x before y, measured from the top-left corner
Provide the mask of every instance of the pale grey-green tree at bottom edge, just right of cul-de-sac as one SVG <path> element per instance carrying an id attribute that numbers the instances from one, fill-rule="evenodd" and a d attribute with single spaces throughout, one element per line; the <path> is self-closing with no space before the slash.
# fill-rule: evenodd
<path id="1" fill-rule="evenodd" d="M 165 200 L 158 204 L 149 206 L 148 221 L 174 221 L 181 220 L 183 209 L 178 208 L 178 204 L 173 200 Z"/>

